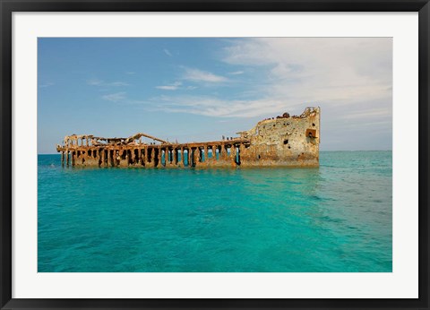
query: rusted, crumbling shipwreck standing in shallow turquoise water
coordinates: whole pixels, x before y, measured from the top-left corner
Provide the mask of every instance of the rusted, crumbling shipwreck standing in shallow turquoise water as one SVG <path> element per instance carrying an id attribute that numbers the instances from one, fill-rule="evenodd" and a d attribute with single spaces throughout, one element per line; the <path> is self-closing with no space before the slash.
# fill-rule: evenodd
<path id="1" fill-rule="evenodd" d="M 168 142 L 146 133 L 128 138 L 72 134 L 56 145 L 63 166 L 72 167 L 318 167 L 320 108 L 300 116 L 284 113 L 254 128 L 212 142 Z M 150 142 L 145 142 L 145 141 Z"/>

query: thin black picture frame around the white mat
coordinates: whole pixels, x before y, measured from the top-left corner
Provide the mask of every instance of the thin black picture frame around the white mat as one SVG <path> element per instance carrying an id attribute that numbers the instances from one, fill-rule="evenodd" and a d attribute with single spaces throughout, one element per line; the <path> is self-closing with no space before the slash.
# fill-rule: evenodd
<path id="1" fill-rule="evenodd" d="M 0 0 L 1 10 L 1 309 L 396 308 L 428 309 L 429 295 L 429 0 Z M 419 277 L 417 299 L 57 299 L 12 298 L 12 14 L 13 12 L 418 12 Z"/>

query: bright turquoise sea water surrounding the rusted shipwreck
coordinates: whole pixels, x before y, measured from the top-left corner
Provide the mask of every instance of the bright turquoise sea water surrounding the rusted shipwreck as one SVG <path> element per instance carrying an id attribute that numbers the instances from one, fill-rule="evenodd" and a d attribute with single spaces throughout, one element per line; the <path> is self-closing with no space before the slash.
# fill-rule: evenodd
<path id="1" fill-rule="evenodd" d="M 391 271 L 391 151 L 320 168 L 62 168 L 39 155 L 39 272 Z"/>

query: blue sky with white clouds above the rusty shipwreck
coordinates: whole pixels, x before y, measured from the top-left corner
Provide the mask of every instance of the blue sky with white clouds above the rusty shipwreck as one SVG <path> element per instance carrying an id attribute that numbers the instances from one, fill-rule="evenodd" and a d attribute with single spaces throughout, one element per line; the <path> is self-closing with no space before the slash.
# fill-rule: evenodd
<path id="1" fill-rule="evenodd" d="M 39 38 L 38 152 L 64 135 L 219 140 L 322 108 L 321 150 L 391 150 L 389 38 Z"/>

